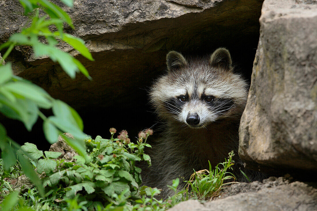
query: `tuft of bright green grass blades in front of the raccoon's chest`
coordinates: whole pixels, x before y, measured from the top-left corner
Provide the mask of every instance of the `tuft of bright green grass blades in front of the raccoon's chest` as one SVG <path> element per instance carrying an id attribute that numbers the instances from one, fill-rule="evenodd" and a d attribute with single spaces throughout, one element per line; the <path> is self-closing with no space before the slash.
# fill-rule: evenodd
<path id="1" fill-rule="evenodd" d="M 225 162 L 219 163 L 214 169 L 211 168 L 209 162 L 209 170 L 204 169 L 195 171 L 187 182 L 187 190 L 191 198 L 198 200 L 207 200 L 217 197 L 219 192 L 229 184 L 236 183 L 236 177 L 229 172 L 232 169 L 234 161 L 233 151 L 229 153 L 228 159 Z M 227 182 L 228 181 L 228 182 Z"/>

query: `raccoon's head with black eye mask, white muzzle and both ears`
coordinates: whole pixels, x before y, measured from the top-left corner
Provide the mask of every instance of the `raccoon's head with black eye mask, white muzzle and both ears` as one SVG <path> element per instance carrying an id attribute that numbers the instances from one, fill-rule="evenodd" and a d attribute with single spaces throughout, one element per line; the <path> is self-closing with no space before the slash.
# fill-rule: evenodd
<path id="1" fill-rule="evenodd" d="M 159 116 L 191 128 L 242 114 L 247 84 L 234 74 L 228 50 L 218 48 L 207 59 L 186 59 L 175 51 L 167 54 L 168 74 L 152 87 L 152 103 Z"/>

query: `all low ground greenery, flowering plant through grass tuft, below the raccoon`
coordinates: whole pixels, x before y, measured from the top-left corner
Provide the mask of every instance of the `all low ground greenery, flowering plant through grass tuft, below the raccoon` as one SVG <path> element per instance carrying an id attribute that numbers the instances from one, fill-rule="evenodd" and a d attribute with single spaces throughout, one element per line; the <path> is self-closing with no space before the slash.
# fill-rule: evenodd
<path id="1" fill-rule="evenodd" d="M 207 200 L 219 194 L 219 191 L 234 176 L 227 170 L 233 165 L 233 152 L 229 159 L 219 163 L 215 169 L 195 172 L 188 182 L 187 188 L 179 191 L 179 178 L 169 186 L 174 195 L 167 200 L 159 199 L 160 190 L 141 184 L 141 169 L 135 166 L 138 161 L 146 161 L 144 148 L 145 137 L 136 144 L 131 143 L 126 131 L 121 131 L 118 138 L 95 140 L 86 139 L 88 160 L 76 155 L 71 160 L 56 159 L 61 153 L 40 151 L 34 144 L 22 146 L 26 153 L 32 154 L 29 159 L 32 167 L 42 174 L 45 196 L 41 196 L 37 188 L 20 194 L 15 209 L 31 208 L 33 210 L 121 210 L 121 211 L 164 211 L 181 201 L 190 198 Z M 42 165 L 41 163 L 49 163 Z M 150 160 L 146 161 L 150 165 Z M 54 163 L 54 164 L 53 164 Z M 11 167 L 11 174 L 3 171 L 0 159 L 2 178 L 17 178 L 22 171 L 19 165 Z M 207 172 L 208 174 L 204 174 Z M 12 191 L 10 184 L 2 183 L 1 191 Z M 6 186 L 7 188 L 5 188 Z M 7 196 L 8 197 L 8 196 Z M 19 201 L 19 202 L 17 202 Z M 9 205 L 8 205 L 9 206 Z"/>

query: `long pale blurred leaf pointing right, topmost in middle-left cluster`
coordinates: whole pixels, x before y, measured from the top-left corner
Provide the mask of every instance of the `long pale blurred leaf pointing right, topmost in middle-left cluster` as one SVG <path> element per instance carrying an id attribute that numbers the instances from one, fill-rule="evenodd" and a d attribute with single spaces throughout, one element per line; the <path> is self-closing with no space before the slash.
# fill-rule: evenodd
<path id="1" fill-rule="evenodd" d="M 16 93 L 26 99 L 36 102 L 36 104 L 42 108 L 49 109 L 51 107 L 49 94 L 34 84 L 26 83 L 24 81 L 14 81 L 3 85 L 3 87 L 12 93 Z"/>

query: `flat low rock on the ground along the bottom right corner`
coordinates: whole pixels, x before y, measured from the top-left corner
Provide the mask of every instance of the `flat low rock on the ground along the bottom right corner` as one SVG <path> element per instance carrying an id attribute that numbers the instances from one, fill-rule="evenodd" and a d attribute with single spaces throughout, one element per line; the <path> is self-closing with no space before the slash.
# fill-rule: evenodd
<path id="1" fill-rule="evenodd" d="M 316 184 L 314 184 L 316 186 Z M 248 191 L 246 187 L 253 187 Z M 236 191 L 235 191 L 236 190 Z M 227 211 L 227 210 L 307 210 L 317 209 L 317 189 L 303 182 L 291 182 L 285 178 L 271 177 L 268 180 L 252 183 L 239 183 L 225 189 L 219 199 L 201 204 L 197 200 L 184 201 L 169 211 L 200 210 L 200 211 Z M 238 192 L 238 194 L 236 194 Z M 234 194 L 228 196 L 230 194 Z"/>

